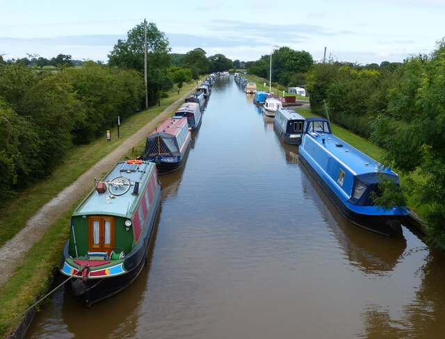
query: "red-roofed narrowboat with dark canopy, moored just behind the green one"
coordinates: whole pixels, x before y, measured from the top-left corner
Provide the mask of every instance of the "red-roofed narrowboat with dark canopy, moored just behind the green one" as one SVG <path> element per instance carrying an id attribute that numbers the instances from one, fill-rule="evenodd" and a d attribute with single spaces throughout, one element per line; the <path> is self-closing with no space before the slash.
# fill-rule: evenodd
<path id="1" fill-rule="evenodd" d="M 142 158 L 156 163 L 159 174 L 166 174 L 184 164 L 190 146 L 187 118 L 170 117 L 147 136 Z"/>

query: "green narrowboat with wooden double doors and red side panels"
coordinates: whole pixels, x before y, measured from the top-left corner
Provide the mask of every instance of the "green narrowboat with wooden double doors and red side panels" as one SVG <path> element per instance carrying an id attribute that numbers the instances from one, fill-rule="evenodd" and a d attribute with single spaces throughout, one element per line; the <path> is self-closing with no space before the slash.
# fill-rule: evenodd
<path id="1" fill-rule="evenodd" d="M 60 272 L 87 306 L 129 286 L 145 265 L 161 201 L 156 165 L 116 163 L 76 207 Z"/>

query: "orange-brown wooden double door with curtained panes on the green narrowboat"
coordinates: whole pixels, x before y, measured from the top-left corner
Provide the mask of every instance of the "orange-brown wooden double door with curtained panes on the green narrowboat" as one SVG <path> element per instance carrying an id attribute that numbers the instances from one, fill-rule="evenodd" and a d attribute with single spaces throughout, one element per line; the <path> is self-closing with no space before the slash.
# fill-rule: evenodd
<path id="1" fill-rule="evenodd" d="M 108 252 L 114 249 L 114 217 L 89 217 L 88 251 Z"/>

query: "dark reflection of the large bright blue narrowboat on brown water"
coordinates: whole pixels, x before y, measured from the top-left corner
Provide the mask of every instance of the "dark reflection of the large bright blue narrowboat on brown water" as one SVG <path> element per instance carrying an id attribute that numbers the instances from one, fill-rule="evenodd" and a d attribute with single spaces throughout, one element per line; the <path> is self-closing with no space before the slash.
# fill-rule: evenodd
<path id="1" fill-rule="evenodd" d="M 366 274 L 386 274 L 394 270 L 407 245 L 403 234 L 385 237 L 352 224 L 341 215 L 305 166 L 300 165 L 300 169 L 305 199 L 311 199 L 317 205 L 350 265 Z"/>

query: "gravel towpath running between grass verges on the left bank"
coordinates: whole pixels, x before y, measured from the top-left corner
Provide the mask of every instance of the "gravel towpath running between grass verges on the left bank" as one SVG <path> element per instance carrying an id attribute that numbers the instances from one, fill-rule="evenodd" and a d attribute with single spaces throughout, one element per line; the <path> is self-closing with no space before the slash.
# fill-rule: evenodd
<path id="1" fill-rule="evenodd" d="M 169 117 L 172 114 L 172 110 L 174 110 L 180 102 L 184 102 L 184 99 L 194 92 L 194 90 L 195 89 L 183 94 L 177 101 L 165 108 L 160 115 L 154 117 L 154 119 L 145 124 L 145 126 L 136 131 L 136 133 L 129 136 L 129 138 L 122 142 L 114 151 L 111 151 L 110 154 L 99 160 L 79 176 L 79 179 L 59 192 L 58 195 L 47 202 L 47 204 L 44 204 L 44 206 L 26 222 L 26 226 L 22 231 L 19 231 L 14 238 L 0 247 L 0 272 L 3 272 L 0 274 L 0 287 L 8 281 L 10 276 L 15 272 L 15 267 L 22 263 L 25 254 L 31 246 L 42 238 L 42 235 L 44 235 L 48 227 L 54 224 L 63 213 L 69 210 L 77 199 L 83 197 L 91 190 L 94 178 L 100 177 L 104 169 L 111 168 L 118 160 L 121 160 L 131 147 L 138 144 L 140 140 L 145 138 L 145 135 L 153 131 L 156 126 Z"/>

